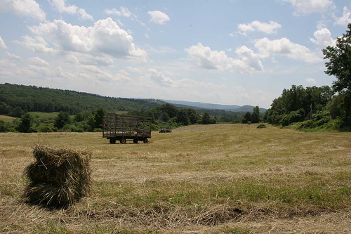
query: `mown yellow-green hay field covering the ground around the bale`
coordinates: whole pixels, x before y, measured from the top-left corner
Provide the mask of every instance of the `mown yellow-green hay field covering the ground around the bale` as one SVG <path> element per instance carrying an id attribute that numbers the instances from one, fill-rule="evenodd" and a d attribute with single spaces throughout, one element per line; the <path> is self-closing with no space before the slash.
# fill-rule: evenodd
<path id="1" fill-rule="evenodd" d="M 154 132 L 0 134 L 0 233 L 351 233 L 351 133 L 256 124 Z M 93 151 L 93 193 L 65 210 L 21 202 L 32 146 Z"/>

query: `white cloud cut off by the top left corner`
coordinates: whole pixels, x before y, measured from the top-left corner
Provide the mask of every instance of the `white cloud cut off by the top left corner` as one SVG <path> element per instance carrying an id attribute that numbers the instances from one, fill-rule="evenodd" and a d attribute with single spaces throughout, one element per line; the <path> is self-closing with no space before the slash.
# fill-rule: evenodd
<path id="1" fill-rule="evenodd" d="M 3 11 L 13 11 L 16 15 L 45 20 L 44 11 L 35 0 L 1 0 L 0 8 Z"/>

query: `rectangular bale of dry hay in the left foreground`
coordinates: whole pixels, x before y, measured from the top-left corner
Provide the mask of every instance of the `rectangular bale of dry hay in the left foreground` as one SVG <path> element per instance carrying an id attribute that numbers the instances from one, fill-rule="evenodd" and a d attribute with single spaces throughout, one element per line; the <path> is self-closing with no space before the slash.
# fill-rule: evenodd
<path id="1" fill-rule="evenodd" d="M 88 195 L 91 189 L 91 152 L 34 145 L 35 162 L 25 174 L 27 202 L 66 207 Z"/>

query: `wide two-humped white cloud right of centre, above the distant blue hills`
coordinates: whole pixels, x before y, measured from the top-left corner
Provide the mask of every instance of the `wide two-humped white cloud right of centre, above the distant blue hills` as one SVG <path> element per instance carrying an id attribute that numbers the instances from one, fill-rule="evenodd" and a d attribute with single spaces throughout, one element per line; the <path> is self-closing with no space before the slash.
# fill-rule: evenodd
<path id="1" fill-rule="evenodd" d="M 263 65 L 256 53 L 246 46 L 241 46 L 235 51 L 239 58 L 231 58 L 225 51 L 212 51 L 210 47 L 203 46 L 201 43 L 190 46 L 185 51 L 199 67 L 206 69 L 232 70 L 239 73 L 263 70 Z"/>

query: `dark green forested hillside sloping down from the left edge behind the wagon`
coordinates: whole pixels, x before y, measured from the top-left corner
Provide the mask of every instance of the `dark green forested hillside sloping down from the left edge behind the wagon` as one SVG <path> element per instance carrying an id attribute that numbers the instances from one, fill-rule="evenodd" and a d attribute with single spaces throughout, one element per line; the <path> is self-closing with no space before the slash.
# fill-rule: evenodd
<path id="1" fill-rule="evenodd" d="M 81 110 L 95 110 L 98 107 L 107 111 L 150 110 L 163 103 L 161 100 L 110 98 L 77 91 L 0 84 L 0 115 L 18 112 L 17 116 L 13 115 L 15 117 L 20 117 L 24 110 L 77 114 Z"/>

